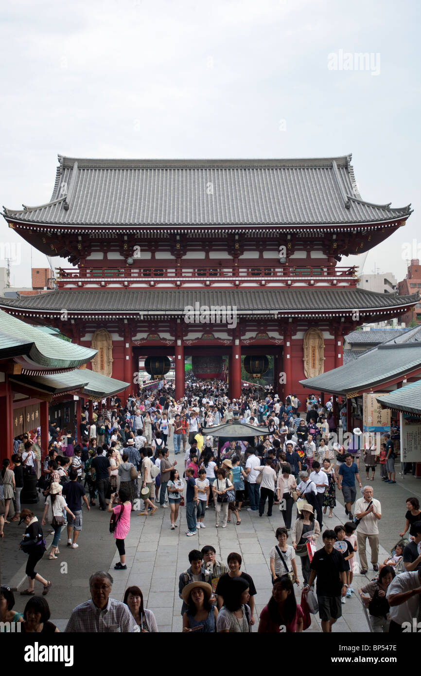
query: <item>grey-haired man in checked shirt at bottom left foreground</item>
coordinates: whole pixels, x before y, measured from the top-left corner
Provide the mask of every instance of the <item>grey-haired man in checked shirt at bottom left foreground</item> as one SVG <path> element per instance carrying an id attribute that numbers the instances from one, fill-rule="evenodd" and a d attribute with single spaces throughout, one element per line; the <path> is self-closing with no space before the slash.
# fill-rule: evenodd
<path id="1" fill-rule="evenodd" d="M 139 625 L 126 604 L 109 598 L 113 579 L 109 573 L 98 571 L 89 578 L 91 599 L 72 611 L 66 632 L 125 632 L 138 633 Z"/>

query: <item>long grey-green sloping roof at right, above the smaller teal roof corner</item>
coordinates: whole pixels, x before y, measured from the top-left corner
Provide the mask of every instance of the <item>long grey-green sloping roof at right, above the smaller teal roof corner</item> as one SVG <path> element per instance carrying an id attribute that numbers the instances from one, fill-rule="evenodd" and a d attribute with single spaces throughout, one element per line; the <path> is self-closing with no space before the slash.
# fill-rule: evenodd
<path id="1" fill-rule="evenodd" d="M 345 394 L 376 387 L 417 369 L 421 369 L 421 343 L 379 345 L 345 366 L 300 383 L 312 391 Z"/>

